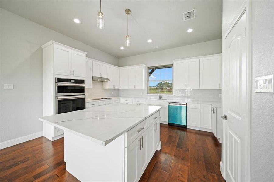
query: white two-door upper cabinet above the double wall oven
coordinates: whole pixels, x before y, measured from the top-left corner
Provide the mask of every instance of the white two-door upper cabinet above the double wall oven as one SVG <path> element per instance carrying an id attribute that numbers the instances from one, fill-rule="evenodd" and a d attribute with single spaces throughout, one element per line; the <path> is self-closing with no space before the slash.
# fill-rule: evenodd
<path id="1" fill-rule="evenodd" d="M 43 59 L 48 61 L 45 64 L 49 66 L 53 62 L 53 74 L 85 77 L 86 52 L 54 41 L 47 42 L 42 48 Z"/>

